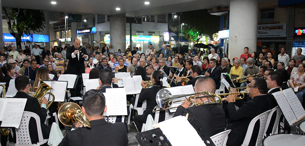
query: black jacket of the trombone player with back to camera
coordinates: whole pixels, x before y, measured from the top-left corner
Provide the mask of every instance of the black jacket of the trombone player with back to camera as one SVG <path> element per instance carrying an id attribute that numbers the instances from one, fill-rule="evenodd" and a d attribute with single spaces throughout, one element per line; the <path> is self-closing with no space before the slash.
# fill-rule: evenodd
<path id="1" fill-rule="evenodd" d="M 178 106 L 175 116 L 185 116 L 188 113 L 188 119 L 195 117 L 208 137 L 224 131 L 226 127 L 226 118 L 224 109 L 217 104 L 192 106 L 185 109 L 183 106 Z"/>

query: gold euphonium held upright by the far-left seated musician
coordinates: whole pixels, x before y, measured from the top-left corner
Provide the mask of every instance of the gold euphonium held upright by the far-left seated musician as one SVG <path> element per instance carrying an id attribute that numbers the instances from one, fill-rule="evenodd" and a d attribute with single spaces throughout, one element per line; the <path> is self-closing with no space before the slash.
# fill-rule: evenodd
<path id="1" fill-rule="evenodd" d="M 55 96 L 51 92 L 47 92 L 48 90 L 51 90 L 52 88 L 47 85 L 45 82 L 43 82 L 40 78 L 39 79 L 39 86 L 36 90 L 36 92 L 33 94 L 33 97 L 37 98 L 39 104 L 41 105 L 42 100 L 44 99 L 46 94 L 50 94 L 53 96 L 52 101 L 48 102 L 47 109 L 51 106 L 51 104 L 54 102 Z"/>

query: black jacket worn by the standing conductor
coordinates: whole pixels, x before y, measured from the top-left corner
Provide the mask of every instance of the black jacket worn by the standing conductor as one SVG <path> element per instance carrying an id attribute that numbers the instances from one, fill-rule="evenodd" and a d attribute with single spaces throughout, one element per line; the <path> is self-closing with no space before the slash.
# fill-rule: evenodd
<path id="1" fill-rule="evenodd" d="M 73 74 L 73 75 L 80 75 L 85 73 L 85 65 L 84 61 L 85 59 L 83 58 L 84 54 L 89 57 L 89 54 L 86 51 L 85 47 L 79 47 L 81 48 L 79 51 L 78 55 L 81 55 L 79 59 L 77 57 L 72 58 L 72 53 L 76 50 L 76 48 L 73 46 L 67 47 L 67 54 L 66 57 L 69 59 L 69 64 L 67 66 L 67 71 L 66 74 Z"/>

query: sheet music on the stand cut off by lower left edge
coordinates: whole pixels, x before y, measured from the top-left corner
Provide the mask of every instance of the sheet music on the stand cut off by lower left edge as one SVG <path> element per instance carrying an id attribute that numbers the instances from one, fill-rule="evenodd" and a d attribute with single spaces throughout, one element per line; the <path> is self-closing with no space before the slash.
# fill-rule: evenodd
<path id="1" fill-rule="evenodd" d="M 24 98 L 0 98 L 1 127 L 18 128 L 26 103 Z"/>

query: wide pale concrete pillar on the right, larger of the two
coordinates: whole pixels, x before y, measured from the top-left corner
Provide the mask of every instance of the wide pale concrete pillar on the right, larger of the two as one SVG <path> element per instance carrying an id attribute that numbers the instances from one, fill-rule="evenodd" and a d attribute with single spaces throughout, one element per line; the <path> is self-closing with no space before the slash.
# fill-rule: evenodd
<path id="1" fill-rule="evenodd" d="M 258 0 L 230 0 L 229 58 L 240 57 L 257 46 Z"/>

